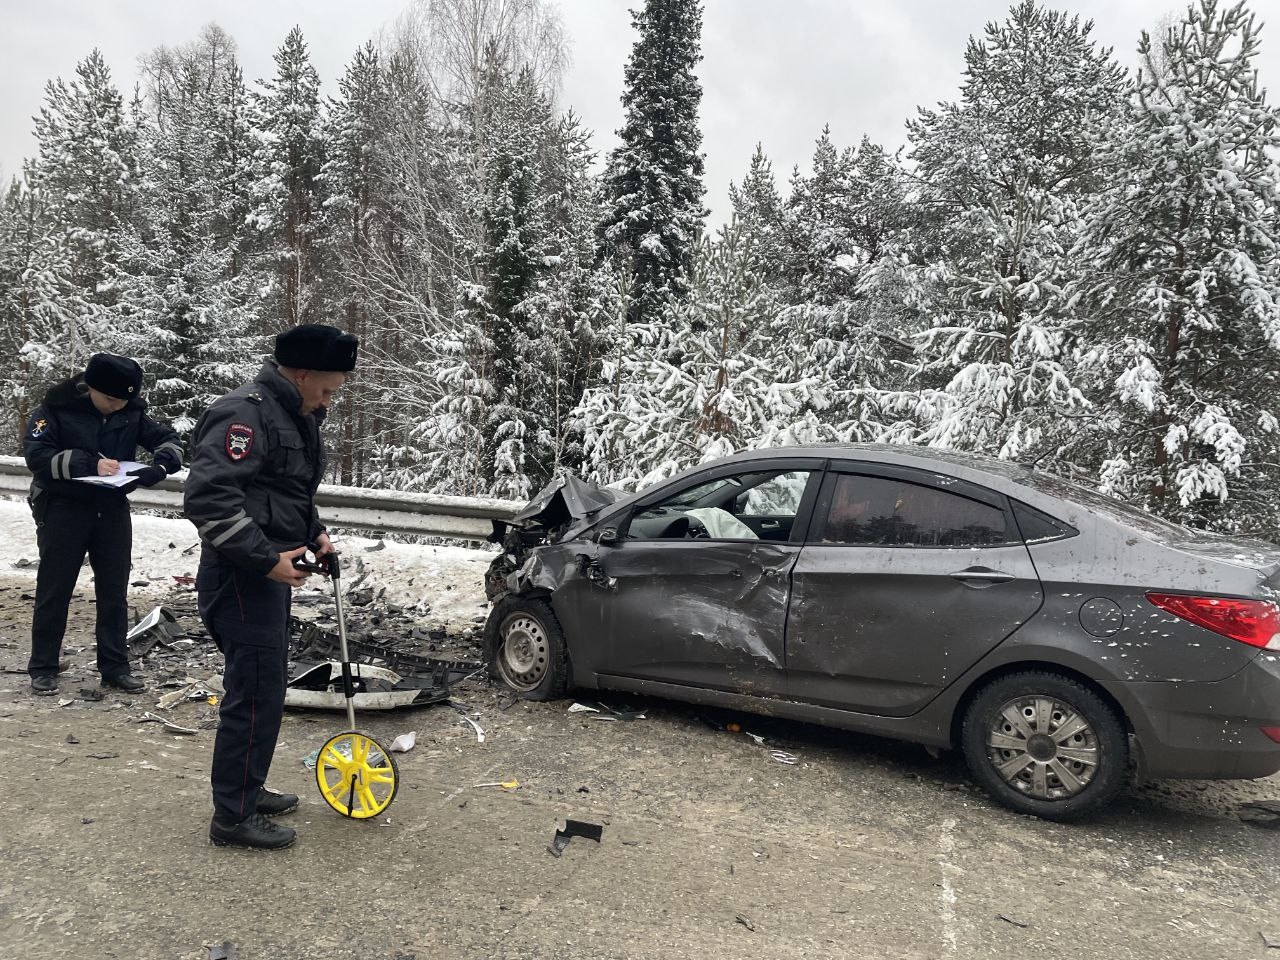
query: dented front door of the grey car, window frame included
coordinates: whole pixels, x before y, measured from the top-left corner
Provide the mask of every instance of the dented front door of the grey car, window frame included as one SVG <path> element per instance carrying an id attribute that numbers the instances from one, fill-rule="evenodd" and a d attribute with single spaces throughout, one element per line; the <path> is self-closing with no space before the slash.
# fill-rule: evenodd
<path id="1" fill-rule="evenodd" d="M 637 504 L 617 545 L 599 552 L 609 589 L 577 593 L 580 622 L 602 627 L 596 672 L 782 695 L 791 568 L 801 543 L 791 532 L 817 497 L 820 465 L 721 471 Z M 739 518 L 765 509 L 781 539 L 760 539 Z"/>

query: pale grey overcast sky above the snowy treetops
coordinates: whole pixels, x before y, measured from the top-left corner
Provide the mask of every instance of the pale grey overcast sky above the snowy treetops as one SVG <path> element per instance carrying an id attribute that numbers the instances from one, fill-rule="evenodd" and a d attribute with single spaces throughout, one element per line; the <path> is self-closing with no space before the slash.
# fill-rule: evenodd
<path id="1" fill-rule="evenodd" d="M 239 46 L 244 76 L 273 72 L 271 54 L 293 24 L 302 27 L 323 90 L 365 40 L 411 0 L 3 0 L 0 32 L 0 173 L 20 170 L 35 150 L 32 115 L 46 81 L 72 77 L 95 46 L 122 90 L 132 88 L 140 54 L 195 40 L 216 22 Z M 563 105 L 595 131 L 596 150 L 616 142 L 622 68 L 635 40 L 628 6 L 641 0 L 559 0 L 572 44 Z M 1125 65 L 1137 61 L 1139 33 L 1184 4 L 1170 0 L 1060 0 L 1050 6 L 1094 20 L 1094 36 Z M 756 141 L 780 184 L 806 168 L 824 123 L 837 145 L 863 134 L 901 146 L 918 105 L 956 96 L 965 41 L 1005 0 L 705 0 L 703 17 L 703 148 L 713 223 L 728 210 L 731 179 L 741 179 Z M 1274 0 L 1254 0 L 1263 17 Z M 1280 20 L 1280 18 L 1276 18 Z M 1262 84 L 1280 91 L 1280 23 L 1262 31 Z M 1276 105 L 1275 97 L 1270 99 Z"/>

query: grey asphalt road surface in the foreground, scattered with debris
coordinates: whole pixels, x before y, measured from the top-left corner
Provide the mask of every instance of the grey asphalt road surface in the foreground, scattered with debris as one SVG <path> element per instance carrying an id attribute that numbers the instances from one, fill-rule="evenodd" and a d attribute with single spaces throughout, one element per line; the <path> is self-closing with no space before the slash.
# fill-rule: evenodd
<path id="1" fill-rule="evenodd" d="M 10 668 L 29 584 L 0 593 Z M 72 614 L 83 635 L 90 600 Z M 1280 829 L 1238 815 L 1277 778 L 1147 783 L 1061 826 L 919 746 L 634 698 L 605 703 L 644 718 L 602 721 L 471 681 L 484 742 L 448 705 L 357 718 L 417 733 L 369 822 L 302 762 L 344 716 L 288 713 L 270 782 L 302 796 L 300 837 L 268 854 L 207 841 L 215 708 L 169 733 L 138 719 L 154 687 L 82 699 L 91 667 L 55 698 L 0 675 L 0 957 L 1280 960 Z M 566 818 L 600 840 L 553 856 Z"/>

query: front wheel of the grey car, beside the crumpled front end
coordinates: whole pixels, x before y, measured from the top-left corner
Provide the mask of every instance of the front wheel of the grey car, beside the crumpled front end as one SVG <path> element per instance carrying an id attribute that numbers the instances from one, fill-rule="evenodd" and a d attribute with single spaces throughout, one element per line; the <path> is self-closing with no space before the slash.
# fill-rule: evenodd
<path id="1" fill-rule="evenodd" d="M 489 672 L 526 700 L 556 700 L 568 690 L 564 631 L 543 599 L 503 596 L 485 622 Z"/>

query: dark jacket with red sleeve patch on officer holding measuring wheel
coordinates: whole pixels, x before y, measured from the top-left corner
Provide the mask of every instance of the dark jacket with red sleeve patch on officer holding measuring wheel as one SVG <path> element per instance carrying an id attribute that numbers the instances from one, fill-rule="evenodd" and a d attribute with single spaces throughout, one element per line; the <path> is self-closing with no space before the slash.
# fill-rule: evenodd
<path id="1" fill-rule="evenodd" d="M 324 532 L 315 508 L 324 408 L 303 417 L 301 406 L 298 388 L 268 361 L 196 425 L 184 512 L 206 549 L 253 573 Z"/>

